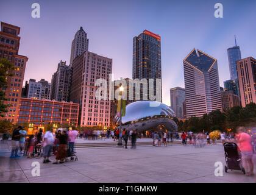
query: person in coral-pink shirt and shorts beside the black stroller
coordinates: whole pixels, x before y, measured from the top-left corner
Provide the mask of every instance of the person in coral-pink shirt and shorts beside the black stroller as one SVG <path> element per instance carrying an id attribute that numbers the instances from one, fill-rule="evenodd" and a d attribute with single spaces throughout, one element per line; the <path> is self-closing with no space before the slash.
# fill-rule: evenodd
<path id="1" fill-rule="evenodd" d="M 246 176 L 254 175 L 254 163 L 252 161 L 252 156 L 254 150 L 252 147 L 252 138 L 249 134 L 245 132 L 244 127 L 238 127 L 236 129 L 236 140 L 238 141 L 238 149 L 241 152 L 242 163 L 244 170 L 246 171 Z"/>

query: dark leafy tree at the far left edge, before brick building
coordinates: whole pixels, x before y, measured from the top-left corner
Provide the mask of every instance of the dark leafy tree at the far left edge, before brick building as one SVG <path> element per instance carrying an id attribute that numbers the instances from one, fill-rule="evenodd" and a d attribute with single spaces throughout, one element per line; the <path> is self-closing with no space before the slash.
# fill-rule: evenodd
<path id="1" fill-rule="evenodd" d="M 4 112 L 7 112 L 7 106 L 4 104 L 5 98 L 5 87 L 7 87 L 7 77 L 13 76 L 12 71 L 14 66 L 7 59 L 0 59 L 0 116 L 4 116 Z"/>

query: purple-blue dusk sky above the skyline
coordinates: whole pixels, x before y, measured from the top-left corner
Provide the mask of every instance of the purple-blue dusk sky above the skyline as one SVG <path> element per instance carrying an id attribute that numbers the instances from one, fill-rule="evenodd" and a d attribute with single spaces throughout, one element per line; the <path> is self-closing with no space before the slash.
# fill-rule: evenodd
<path id="1" fill-rule="evenodd" d="M 41 18 L 31 17 L 38 2 Z M 224 18 L 214 17 L 221 2 Z M 184 87 L 183 59 L 201 49 L 218 60 L 219 81 L 230 79 L 227 48 L 234 35 L 242 58 L 256 57 L 256 1 L 20 1 L 0 2 L 0 21 L 21 27 L 20 54 L 29 57 L 25 80 L 46 79 L 60 60 L 69 63 L 71 41 L 80 26 L 88 34 L 89 51 L 113 59 L 115 79 L 132 78 L 132 38 L 151 30 L 162 37 L 163 102 L 169 89 Z"/>

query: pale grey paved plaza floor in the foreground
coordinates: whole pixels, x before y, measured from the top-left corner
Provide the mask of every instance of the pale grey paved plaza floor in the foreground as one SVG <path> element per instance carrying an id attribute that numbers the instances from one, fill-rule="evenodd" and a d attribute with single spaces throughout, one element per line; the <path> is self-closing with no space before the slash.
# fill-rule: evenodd
<path id="1" fill-rule="evenodd" d="M 135 150 L 95 147 L 76 152 L 78 161 L 43 164 L 42 158 L 10 159 L 9 147 L 1 143 L 0 182 L 256 182 L 255 176 L 244 176 L 241 171 L 215 176 L 215 162 L 226 165 L 220 143 L 202 148 L 176 144 L 138 146 Z M 33 161 L 40 162 L 39 177 L 32 176 Z"/>

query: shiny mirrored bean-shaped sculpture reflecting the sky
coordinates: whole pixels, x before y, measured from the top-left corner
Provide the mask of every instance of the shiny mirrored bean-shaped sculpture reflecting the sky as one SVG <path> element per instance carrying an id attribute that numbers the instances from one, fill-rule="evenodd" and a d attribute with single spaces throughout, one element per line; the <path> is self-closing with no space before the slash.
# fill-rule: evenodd
<path id="1" fill-rule="evenodd" d="M 177 132 L 177 124 L 172 120 L 173 117 L 173 110 L 161 102 L 137 101 L 126 106 L 126 116 L 121 119 L 122 129 L 137 129 L 139 132 L 166 129 Z M 117 127 L 119 120 L 118 116 L 114 119 Z"/>

